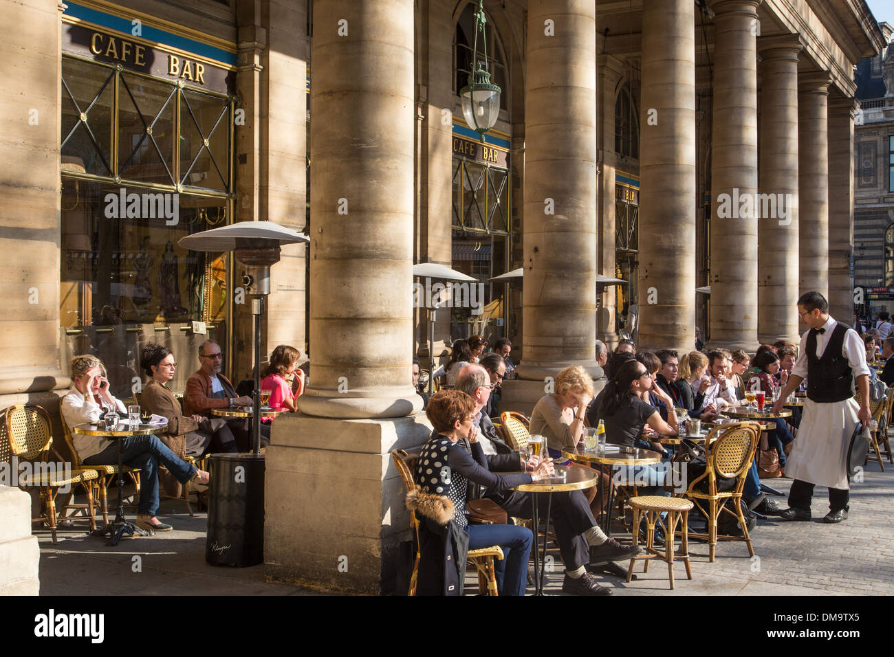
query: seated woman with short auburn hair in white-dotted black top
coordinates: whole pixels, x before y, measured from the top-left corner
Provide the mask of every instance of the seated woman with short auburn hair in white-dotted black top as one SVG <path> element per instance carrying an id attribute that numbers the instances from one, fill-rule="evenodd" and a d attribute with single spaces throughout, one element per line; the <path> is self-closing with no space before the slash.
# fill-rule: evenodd
<path id="1" fill-rule="evenodd" d="M 407 508 L 421 516 L 417 594 L 461 593 L 466 572 L 462 552 L 468 541 L 468 550 L 499 545 L 503 559 L 494 563 L 497 588 L 501 595 L 524 595 L 534 535 L 525 526 L 469 525 L 468 482 L 482 484 L 493 492 L 505 491 L 550 476 L 552 460 L 544 459 L 533 472 L 518 475 L 491 472 L 478 442 L 475 402 L 465 392 L 434 393 L 428 400 L 426 417 L 434 433 L 416 461 L 413 476 L 417 488 L 407 494 Z"/>

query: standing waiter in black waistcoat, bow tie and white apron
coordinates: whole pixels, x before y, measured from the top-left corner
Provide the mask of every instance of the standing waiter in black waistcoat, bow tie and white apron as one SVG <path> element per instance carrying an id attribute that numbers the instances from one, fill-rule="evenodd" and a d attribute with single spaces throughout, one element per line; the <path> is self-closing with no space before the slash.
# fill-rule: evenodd
<path id="1" fill-rule="evenodd" d="M 829 316 L 829 303 L 819 292 L 797 299 L 797 314 L 810 329 L 801 336 L 800 356 L 789 381 L 773 404 L 779 413 L 786 398 L 807 379 L 807 399 L 797 440 L 786 462 L 795 481 L 789 491 L 786 520 L 809 520 L 814 485 L 829 489 L 830 511 L 823 522 L 848 518 L 848 449 L 857 420 L 868 423 L 869 368 L 863 341 L 854 329 Z M 859 405 L 854 400 L 854 381 Z"/>

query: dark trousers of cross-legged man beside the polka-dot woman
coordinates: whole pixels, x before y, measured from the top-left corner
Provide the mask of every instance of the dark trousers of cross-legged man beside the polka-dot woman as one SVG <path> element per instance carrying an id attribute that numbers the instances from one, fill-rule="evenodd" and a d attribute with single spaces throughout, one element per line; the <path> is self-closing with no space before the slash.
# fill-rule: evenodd
<path id="1" fill-rule="evenodd" d="M 510 516 L 530 518 L 532 494 L 501 491 L 489 497 L 502 506 Z M 546 515 L 546 498 L 544 493 L 537 495 L 537 512 L 541 519 Z M 586 543 L 584 532 L 596 526 L 596 521 L 584 493 L 580 491 L 552 493 L 550 516 L 565 568 L 575 570 L 586 566 L 590 561 L 590 546 Z"/>

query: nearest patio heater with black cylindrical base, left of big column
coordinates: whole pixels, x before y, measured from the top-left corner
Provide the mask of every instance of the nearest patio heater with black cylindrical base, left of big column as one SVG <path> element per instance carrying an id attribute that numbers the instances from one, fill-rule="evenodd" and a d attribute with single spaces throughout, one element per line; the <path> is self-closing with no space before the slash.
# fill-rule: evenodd
<path id="1" fill-rule="evenodd" d="M 270 294 L 270 266 L 280 246 L 310 241 L 291 228 L 271 222 L 239 222 L 180 240 L 192 251 L 232 251 L 245 265 L 242 284 L 254 316 L 255 390 L 251 414 L 252 451 L 213 454 L 208 496 L 205 560 L 230 566 L 254 566 L 264 560 L 264 457 L 261 455 L 261 319 Z"/>

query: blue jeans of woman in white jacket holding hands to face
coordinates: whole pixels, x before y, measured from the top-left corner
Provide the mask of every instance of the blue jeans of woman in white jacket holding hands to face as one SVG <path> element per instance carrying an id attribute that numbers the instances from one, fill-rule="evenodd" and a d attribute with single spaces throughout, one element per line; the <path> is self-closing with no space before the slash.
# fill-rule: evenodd
<path id="1" fill-rule="evenodd" d="M 116 466 L 118 450 L 122 450 L 125 466 L 139 467 L 139 506 L 141 516 L 158 512 L 158 464 L 168 468 L 181 484 L 190 481 L 196 467 L 177 458 L 164 442 L 154 435 L 131 435 L 115 439 L 111 445 L 81 461 L 85 466 Z"/>

